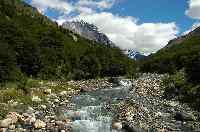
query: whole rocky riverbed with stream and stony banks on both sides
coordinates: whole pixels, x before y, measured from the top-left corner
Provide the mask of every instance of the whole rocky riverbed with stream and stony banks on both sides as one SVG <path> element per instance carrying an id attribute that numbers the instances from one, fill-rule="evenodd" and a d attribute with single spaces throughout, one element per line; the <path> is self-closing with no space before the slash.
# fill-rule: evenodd
<path id="1" fill-rule="evenodd" d="M 0 120 L 0 132 L 200 131 L 199 112 L 163 97 L 164 78 L 142 74 L 133 87 L 121 79 L 40 82 L 31 89 L 30 106 L 17 100 L 1 103 L 17 109 Z"/>

